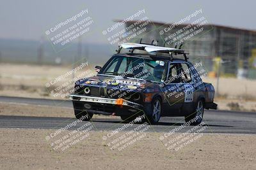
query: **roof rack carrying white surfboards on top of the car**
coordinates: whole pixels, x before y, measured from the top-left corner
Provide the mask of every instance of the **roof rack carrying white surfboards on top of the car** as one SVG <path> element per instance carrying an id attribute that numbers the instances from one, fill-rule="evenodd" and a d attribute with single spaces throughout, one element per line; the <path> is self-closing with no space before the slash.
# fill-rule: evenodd
<path id="1" fill-rule="evenodd" d="M 189 58 L 187 57 L 187 54 L 184 50 L 180 49 L 182 44 L 177 48 L 177 45 L 175 45 L 175 48 L 165 47 L 164 46 L 157 46 L 158 41 L 152 40 L 150 44 L 141 43 L 142 38 L 140 39 L 140 43 L 122 43 L 120 46 L 118 46 L 118 50 L 116 50 L 117 53 L 120 53 L 122 48 L 124 49 L 130 49 L 129 52 L 133 53 L 134 50 L 145 50 L 148 53 L 152 52 L 161 52 L 161 53 L 169 53 L 171 60 L 173 60 L 173 54 L 183 54 L 184 59 L 187 61 Z"/>

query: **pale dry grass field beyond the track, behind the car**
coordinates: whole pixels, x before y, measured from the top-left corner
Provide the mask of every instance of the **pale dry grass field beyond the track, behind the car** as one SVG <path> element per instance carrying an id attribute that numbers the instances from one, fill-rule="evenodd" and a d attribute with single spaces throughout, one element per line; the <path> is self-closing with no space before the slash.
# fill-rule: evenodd
<path id="1" fill-rule="evenodd" d="M 49 99 L 65 99 L 52 96 L 51 90 L 72 79 L 69 76 L 55 85 L 45 87 L 45 83 L 70 71 L 68 66 L 28 66 L 21 64 L 0 64 L 0 96 L 36 97 Z M 78 71 L 76 75 L 83 73 Z M 216 89 L 216 78 L 204 78 Z M 236 78 L 220 78 L 219 95 L 215 101 L 221 110 L 243 109 L 256 110 L 256 80 L 238 80 Z M 233 107 L 228 103 L 238 103 Z M 231 106 L 231 107 L 230 107 Z"/>

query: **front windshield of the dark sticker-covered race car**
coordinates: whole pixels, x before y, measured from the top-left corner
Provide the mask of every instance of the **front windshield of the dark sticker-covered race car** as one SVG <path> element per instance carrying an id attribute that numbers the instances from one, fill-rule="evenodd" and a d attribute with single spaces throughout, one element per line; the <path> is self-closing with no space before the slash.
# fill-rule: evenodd
<path id="1" fill-rule="evenodd" d="M 112 57 L 100 70 L 100 74 L 140 78 L 148 81 L 163 81 L 163 60 L 142 59 L 137 57 Z"/>

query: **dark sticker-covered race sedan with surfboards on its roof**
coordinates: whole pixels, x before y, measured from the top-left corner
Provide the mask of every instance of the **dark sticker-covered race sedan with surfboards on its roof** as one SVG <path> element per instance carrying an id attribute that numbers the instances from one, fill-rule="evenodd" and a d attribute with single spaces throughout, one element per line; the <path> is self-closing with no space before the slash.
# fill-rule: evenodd
<path id="1" fill-rule="evenodd" d="M 129 52 L 120 53 L 123 48 Z M 217 108 L 214 87 L 201 80 L 202 73 L 188 61 L 184 50 L 124 43 L 117 52 L 103 67 L 95 67 L 96 76 L 76 81 L 75 93 L 69 96 L 76 118 L 90 120 L 93 114 L 103 114 L 132 121 L 143 115 L 156 124 L 160 117 L 178 116 L 197 125 L 204 109 Z M 173 54 L 184 59 L 173 58 Z"/>

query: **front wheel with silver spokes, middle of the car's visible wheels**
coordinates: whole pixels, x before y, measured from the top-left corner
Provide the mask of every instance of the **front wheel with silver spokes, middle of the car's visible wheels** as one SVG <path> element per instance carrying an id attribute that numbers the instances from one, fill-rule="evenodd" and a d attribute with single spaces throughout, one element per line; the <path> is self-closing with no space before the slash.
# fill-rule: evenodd
<path id="1" fill-rule="evenodd" d="M 157 104 L 158 103 L 158 104 Z M 162 103 L 159 97 L 153 99 L 150 104 L 150 107 L 145 108 L 145 120 L 150 124 L 157 124 L 161 118 L 162 113 Z"/>

